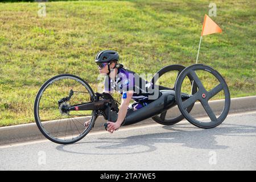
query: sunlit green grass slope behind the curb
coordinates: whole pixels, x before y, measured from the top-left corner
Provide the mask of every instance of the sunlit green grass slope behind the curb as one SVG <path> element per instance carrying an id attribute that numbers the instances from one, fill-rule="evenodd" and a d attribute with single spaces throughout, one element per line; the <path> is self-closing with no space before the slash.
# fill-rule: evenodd
<path id="1" fill-rule="evenodd" d="M 199 63 L 224 76 L 232 97 L 256 95 L 255 1 L 214 3 L 217 16 L 212 19 L 223 32 L 204 36 Z M 195 63 L 208 5 L 47 2 L 47 16 L 39 17 L 38 3 L 0 3 L 0 126 L 34 122 L 36 93 L 52 76 L 71 73 L 96 89 L 94 57 L 102 49 L 118 51 L 121 63 L 137 73 Z"/>

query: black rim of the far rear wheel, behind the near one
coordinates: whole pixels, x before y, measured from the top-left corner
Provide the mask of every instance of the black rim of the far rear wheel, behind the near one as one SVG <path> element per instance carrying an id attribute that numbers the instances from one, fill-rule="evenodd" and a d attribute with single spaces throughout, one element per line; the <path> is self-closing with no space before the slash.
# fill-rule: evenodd
<path id="1" fill-rule="evenodd" d="M 185 69 L 185 67 L 183 65 L 179 65 L 179 64 L 174 64 L 174 65 L 168 65 L 162 69 L 160 69 L 158 72 L 156 72 L 155 76 L 152 78 L 151 82 L 153 84 L 155 84 L 160 77 L 162 77 L 164 74 L 168 73 L 168 72 L 172 72 L 172 71 L 176 71 L 177 72 L 177 76 L 175 77 L 175 82 L 177 80 L 177 77 L 180 75 L 180 73 L 183 71 L 183 69 Z M 158 74 L 158 76 L 156 76 Z M 192 78 L 188 77 L 189 80 L 191 80 L 192 83 Z M 159 89 L 170 89 L 170 90 L 175 90 L 175 85 L 173 87 L 168 87 L 168 86 L 159 86 Z M 193 93 L 196 92 L 196 87 L 193 88 Z M 191 105 L 190 107 L 187 108 L 188 113 L 192 110 L 193 105 Z M 175 123 L 181 121 L 182 119 L 184 119 L 183 115 L 177 115 L 175 117 L 172 118 L 166 118 L 166 114 L 167 114 L 167 110 L 163 111 L 163 113 L 161 113 L 160 115 L 156 115 L 155 117 L 152 117 L 152 119 L 154 119 L 156 122 L 162 124 L 162 125 L 174 125 Z"/>

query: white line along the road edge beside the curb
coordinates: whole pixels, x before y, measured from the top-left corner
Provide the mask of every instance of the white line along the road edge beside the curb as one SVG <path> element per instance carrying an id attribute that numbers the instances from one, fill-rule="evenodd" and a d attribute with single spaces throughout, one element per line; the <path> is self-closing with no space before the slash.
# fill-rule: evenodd
<path id="1" fill-rule="evenodd" d="M 230 116 L 233 117 L 233 116 L 238 116 L 238 115 L 246 115 L 246 114 L 256 114 L 256 111 L 244 111 L 242 113 L 230 113 L 230 114 L 228 114 L 228 117 L 230 117 Z M 209 119 L 208 117 L 198 117 L 198 118 L 200 118 L 202 120 Z M 183 121 L 186 121 L 186 120 L 183 119 Z M 129 130 L 134 130 L 134 129 L 146 129 L 146 128 L 155 127 L 155 126 L 163 126 L 163 125 L 160 125 L 158 123 L 154 123 L 154 124 L 150 124 L 150 125 L 127 127 L 127 128 L 119 129 L 118 131 L 129 131 Z M 95 131 L 93 133 L 89 133 L 87 136 L 101 135 L 101 134 L 106 134 L 106 131 Z M 51 142 L 51 141 L 48 140 L 48 139 L 43 139 L 43 140 L 36 140 L 36 141 L 32 141 L 32 142 L 8 144 L 8 145 L 5 145 L 5 146 L 0 146 L 0 149 L 1 148 L 26 146 L 26 145 L 30 145 L 30 144 L 45 143 L 45 142 Z"/>

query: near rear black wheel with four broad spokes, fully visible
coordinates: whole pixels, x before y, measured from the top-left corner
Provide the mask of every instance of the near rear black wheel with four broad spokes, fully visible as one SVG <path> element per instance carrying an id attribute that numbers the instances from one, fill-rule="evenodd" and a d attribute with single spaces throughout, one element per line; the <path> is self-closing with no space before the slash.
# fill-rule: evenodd
<path id="1" fill-rule="evenodd" d="M 204 85 L 202 84 L 203 80 L 199 79 L 196 71 L 201 71 L 203 73 L 210 73 L 210 76 L 214 76 L 217 79 L 217 86 L 214 86 L 211 89 L 205 89 Z M 193 94 L 190 98 L 185 101 L 181 100 L 180 93 L 181 93 L 181 86 L 183 84 L 184 78 L 188 75 L 191 75 L 192 79 L 194 80 L 194 84 L 197 86 L 198 91 Z M 207 83 L 207 82 L 206 82 Z M 229 112 L 230 107 L 230 93 L 228 89 L 228 85 L 226 84 L 224 78 L 212 67 L 203 64 L 194 64 L 187 68 L 185 68 L 179 75 L 175 85 L 175 97 L 177 106 L 180 109 L 180 112 L 184 115 L 184 117 L 193 125 L 197 127 L 201 127 L 204 129 L 209 129 L 220 125 L 226 118 Z M 214 97 L 219 92 L 224 92 L 224 108 L 221 114 L 216 117 L 216 114 L 213 112 L 212 108 L 209 106 L 208 101 L 210 98 Z M 188 111 L 185 109 L 190 105 L 195 104 L 196 101 L 200 101 L 201 105 L 203 106 L 204 110 L 208 114 L 210 121 L 199 121 L 191 116 Z"/>

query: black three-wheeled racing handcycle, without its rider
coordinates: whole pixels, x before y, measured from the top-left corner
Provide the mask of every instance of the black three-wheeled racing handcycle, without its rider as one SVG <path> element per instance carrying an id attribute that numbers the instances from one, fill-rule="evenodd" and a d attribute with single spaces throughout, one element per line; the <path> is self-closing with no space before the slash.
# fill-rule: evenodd
<path id="1" fill-rule="evenodd" d="M 196 71 L 210 73 L 218 84 L 213 89 L 205 89 Z M 159 78 L 166 77 L 171 72 L 177 72 L 173 87 L 157 85 Z M 208 65 L 167 65 L 156 72 L 150 82 L 158 86 L 159 97 L 141 109 L 127 111 L 121 126 L 132 125 L 148 118 L 162 125 L 174 125 L 185 118 L 192 125 L 210 129 L 220 125 L 228 115 L 228 85 L 220 73 Z M 191 92 L 183 92 L 186 85 L 190 86 Z M 223 93 L 224 107 L 217 117 L 208 101 L 219 92 Z M 196 101 L 203 106 L 209 121 L 200 121 L 190 114 Z M 180 115 L 167 118 L 167 110 L 174 106 L 179 108 Z M 100 115 L 105 120 L 115 122 L 118 111 L 118 102 L 110 94 L 94 93 L 85 80 L 70 74 L 57 75 L 44 82 L 34 104 L 34 116 L 39 130 L 44 137 L 59 144 L 75 143 L 84 138 Z M 85 126 L 84 122 L 88 119 L 89 125 Z M 104 127 L 106 129 L 106 123 Z"/>

